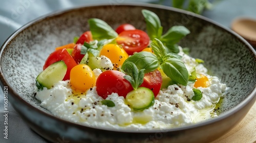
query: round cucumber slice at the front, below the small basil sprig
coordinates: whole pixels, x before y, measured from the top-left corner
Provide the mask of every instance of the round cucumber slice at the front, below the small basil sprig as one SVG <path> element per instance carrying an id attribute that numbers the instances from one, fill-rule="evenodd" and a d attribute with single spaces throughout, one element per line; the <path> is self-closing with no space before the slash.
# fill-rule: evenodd
<path id="1" fill-rule="evenodd" d="M 127 105 L 136 111 L 142 111 L 154 105 L 155 96 L 152 90 L 146 87 L 139 87 L 129 92 L 125 98 Z"/>

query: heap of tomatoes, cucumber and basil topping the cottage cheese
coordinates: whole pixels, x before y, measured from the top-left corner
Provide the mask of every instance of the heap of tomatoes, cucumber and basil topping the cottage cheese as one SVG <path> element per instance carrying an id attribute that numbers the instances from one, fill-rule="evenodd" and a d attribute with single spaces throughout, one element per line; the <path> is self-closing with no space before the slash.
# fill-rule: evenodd
<path id="1" fill-rule="evenodd" d="M 117 33 L 105 21 L 89 19 L 90 31 L 75 37 L 74 43 L 57 47 L 48 57 L 46 70 L 36 78 L 38 89 L 50 89 L 59 80 L 70 80 L 74 90 L 85 92 L 95 87 L 103 105 L 114 107 L 115 103 L 106 98 L 118 93 L 130 108 L 142 111 L 154 105 L 160 89 L 171 84 L 186 86 L 195 82 L 198 87 L 207 87 L 207 77 L 198 78 L 196 69 L 189 75 L 182 56 L 177 54 L 177 43 L 189 30 L 173 26 L 162 35 L 159 17 L 148 10 L 142 10 L 142 14 L 147 33 L 129 24 L 120 25 Z M 99 73 L 95 76 L 94 72 Z M 193 91 L 192 100 L 200 100 L 202 92 L 196 88 Z"/>

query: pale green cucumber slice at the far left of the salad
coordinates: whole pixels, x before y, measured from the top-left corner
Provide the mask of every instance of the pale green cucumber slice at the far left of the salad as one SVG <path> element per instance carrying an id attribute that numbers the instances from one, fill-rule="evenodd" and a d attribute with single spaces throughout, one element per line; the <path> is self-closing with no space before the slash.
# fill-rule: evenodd
<path id="1" fill-rule="evenodd" d="M 57 61 L 49 65 L 36 77 L 36 86 L 38 89 L 47 87 L 50 89 L 54 83 L 61 81 L 67 72 L 67 65 L 64 61 Z"/>

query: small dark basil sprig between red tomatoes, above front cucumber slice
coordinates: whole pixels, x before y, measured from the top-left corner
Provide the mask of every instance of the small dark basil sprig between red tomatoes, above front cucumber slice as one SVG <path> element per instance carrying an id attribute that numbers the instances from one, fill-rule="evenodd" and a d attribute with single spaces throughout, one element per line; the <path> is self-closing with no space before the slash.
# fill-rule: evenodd
<path id="1" fill-rule="evenodd" d="M 132 84 L 134 89 L 137 89 L 143 82 L 145 69 L 139 70 L 137 66 L 130 61 L 125 62 L 122 67 L 122 71 L 126 74 L 124 78 Z"/>

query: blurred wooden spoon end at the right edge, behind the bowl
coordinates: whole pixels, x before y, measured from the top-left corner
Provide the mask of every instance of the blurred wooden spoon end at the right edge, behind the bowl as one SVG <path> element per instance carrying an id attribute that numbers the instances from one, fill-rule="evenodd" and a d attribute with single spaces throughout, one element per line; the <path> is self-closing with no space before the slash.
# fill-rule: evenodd
<path id="1" fill-rule="evenodd" d="M 256 19 L 246 17 L 234 19 L 231 29 L 256 47 Z"/>

